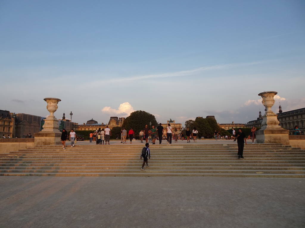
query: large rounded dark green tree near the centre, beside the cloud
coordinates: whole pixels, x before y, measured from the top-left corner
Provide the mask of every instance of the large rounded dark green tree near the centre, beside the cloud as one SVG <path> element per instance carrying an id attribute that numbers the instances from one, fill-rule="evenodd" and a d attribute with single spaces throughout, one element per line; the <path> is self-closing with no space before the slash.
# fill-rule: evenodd
<path id="1" fill-rule="evenodd" d="M 132 128 L 135 132 L 135 136 L 138 136 L 140 131 L 144 129 L 145 124 L 147 124 L 148 128 L 150 127 L 149 122 L 151 122 L 152 126 L 155 126 L 155 128 L 157 127 L 157 121 L 154 115 L 145 111 L 135 111 L 131 112 L 130 116 L 126 117 L 123 127 L 125 127 L 127 132 Z"/>

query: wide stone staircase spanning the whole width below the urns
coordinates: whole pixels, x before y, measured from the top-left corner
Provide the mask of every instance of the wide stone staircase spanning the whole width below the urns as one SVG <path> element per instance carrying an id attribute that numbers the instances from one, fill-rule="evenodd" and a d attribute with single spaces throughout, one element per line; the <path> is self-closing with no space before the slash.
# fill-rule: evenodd
<path id="1" fill-rule="evenodd" d="M 150 167 L 141 171 L 143 145 L 38 146 L 0 155 L 0 176 L 220 176 L 305 177 L 305 150 L 281 144 L 150 145 Z"/>

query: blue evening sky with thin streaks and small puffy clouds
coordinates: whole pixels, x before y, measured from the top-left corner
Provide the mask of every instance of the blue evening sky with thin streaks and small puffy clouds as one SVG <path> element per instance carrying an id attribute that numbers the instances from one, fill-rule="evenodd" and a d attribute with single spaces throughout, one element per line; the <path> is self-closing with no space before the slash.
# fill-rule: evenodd
<path id="1" fill-rule="evenodd" d="M 142 110 L 184 125 L 305 107 L 305 1 L 0 1 L 0 109 L 82 124 Z"/>

